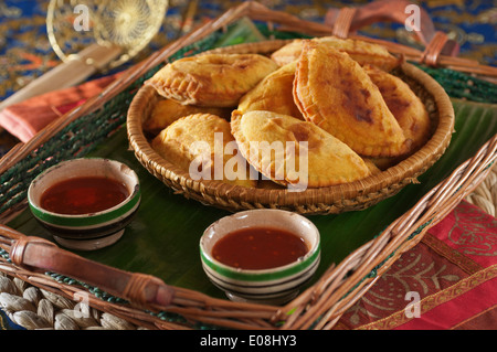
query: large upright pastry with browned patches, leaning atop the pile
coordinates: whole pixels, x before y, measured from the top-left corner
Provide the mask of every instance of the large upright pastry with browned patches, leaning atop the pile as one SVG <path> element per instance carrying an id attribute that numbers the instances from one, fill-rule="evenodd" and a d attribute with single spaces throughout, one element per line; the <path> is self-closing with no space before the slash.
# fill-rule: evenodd
<path id="1" fill-rule="evenodd" d="M 305 119 L 364 157 L 409 151 L 408 140 L 378 87 L 347 53 L 307 41 L 297 62 L 294 98 Z"/>

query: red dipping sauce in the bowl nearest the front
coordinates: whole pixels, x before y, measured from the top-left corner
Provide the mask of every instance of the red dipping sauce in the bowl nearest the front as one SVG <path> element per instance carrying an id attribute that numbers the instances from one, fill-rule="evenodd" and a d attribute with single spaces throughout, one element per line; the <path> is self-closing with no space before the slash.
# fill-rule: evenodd
<path id="1" fill-rule="evenodd" d="M 293 263 L 308 250 L 304 238 L 285 230 L 250 227 L 219 239 L 212 256 L 241 269 L 268 269 Z"/>

